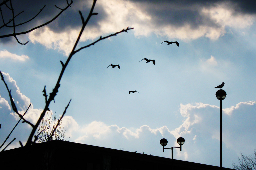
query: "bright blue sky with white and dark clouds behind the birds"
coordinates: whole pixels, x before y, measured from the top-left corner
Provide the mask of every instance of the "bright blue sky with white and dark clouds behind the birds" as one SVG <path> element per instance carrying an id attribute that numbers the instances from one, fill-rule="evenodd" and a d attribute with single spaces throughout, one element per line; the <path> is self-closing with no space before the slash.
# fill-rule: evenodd
<path id="1" fill-rule="evenodd" d="M 68 0 L 70 2 L 70 0 Z M 47 22 L 63 1 L 13 0 L 17 27 L 24 31 Z M 79 10 L 87 17 L 93 1 L 74 1 L 52 23 L 28 34 L 0 39 L 0 70 L 20 113 L 35 123 L 45 106 L 42 90 L 54 88 L 82 26 Z M 10 12 L 1 6 L 4 20 Z M 128 33 L 102 40 L 76 53 L 60 82 L 50 110 L 61 115 L 65 140 L 88 145 L 137 151 L 220 166 L 220 101 L 214 88 L 225 82 L 222 101 L 222 166 L 232 168 L 241 153 L 256 149 L 256 2 L 254 1 L 143 1 L 98 0 L 79 47 L 100 36 L 127 27 Z M 3 21 L 1 20 L 1 25 Z M 0 36 L 12 28 L 2 28 Z M 167 45 L 164 41 L 178 41 Z M 162 43 L 162 44 L 161 44 Z M 146 63 L 144 58 L 154 59 Z M 142 60 L 141 62 L 139 62 Z M 108 67 L 119 64 L 117 67 Z M 107 68 L 108 67 L 108 68 Z M 138 93 L 129 91 L 136 90 Z M 4 83 L 0 82 L 0 143 L 18 117 L 11 109 Z M 7 148 L 25 144 L 31 128 L 20 123 Z M 8 142 L 9 141 L 9 142 Z M 6 143 L 6 144 L 7 144 Z M 5 145 L 6 146 L 6 145 Z"/>

